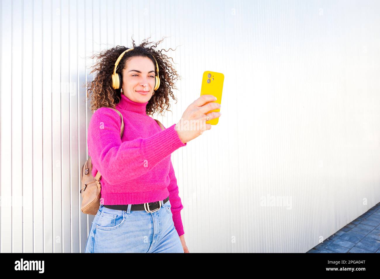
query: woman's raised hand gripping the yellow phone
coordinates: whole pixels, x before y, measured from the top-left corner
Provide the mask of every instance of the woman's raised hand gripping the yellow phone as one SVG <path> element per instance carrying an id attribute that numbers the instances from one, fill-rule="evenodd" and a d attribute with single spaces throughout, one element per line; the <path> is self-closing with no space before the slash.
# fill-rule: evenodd
<path id="1" fill-rule="evenodd" d="M 207 117 L 209 120 L 220 117 L 219 112 L 207 113 L 214 109 L 220 109 L 220 104 L 215 101 L 213 95 L 202 95 L 187 107 L 181 120 L 175 126 L 179 139 L 183 143 L 187 143 L 198 137 L 203 131 L 211 129 L 211 124 L 206 124 Z"/>

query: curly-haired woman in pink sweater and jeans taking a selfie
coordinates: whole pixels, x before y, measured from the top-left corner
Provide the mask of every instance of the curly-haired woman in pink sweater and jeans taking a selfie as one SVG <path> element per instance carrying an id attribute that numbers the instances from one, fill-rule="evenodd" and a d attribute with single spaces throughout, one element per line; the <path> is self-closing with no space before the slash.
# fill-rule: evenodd
<path id="1" fill-rule="evenodd" d="M 101 204 L 87 253 L 188 252 L 171 153 L 211 129 L 205 122 L 220 113 L 206 113 L 220 105 L 204 95 L 188 106 L 179 123 L 162 130 L 149 115 L 170 106 L 168 95 L 176 99 L 171 89 L 177 73 L 165 54 L 147 44 L 136 47 L 133 41 L 133 49 L 105 50 L 92 71 L 97 74 L 88 91 L 96 111 L 87 145 L 92 175 L 101 173 Z M 115 68 L 120 80 L 112 76 Z M 121 138 L 120 116 L 109 107 L 123 116 Z"/>

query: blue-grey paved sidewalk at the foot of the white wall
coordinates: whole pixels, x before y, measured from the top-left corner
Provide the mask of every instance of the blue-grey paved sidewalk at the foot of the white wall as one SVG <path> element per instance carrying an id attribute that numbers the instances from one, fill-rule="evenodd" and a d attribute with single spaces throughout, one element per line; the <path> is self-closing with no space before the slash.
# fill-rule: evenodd
<path id="1" fill-rule="evenodd" d="M 380 203 L 307 253 L 380 253 Z"/>

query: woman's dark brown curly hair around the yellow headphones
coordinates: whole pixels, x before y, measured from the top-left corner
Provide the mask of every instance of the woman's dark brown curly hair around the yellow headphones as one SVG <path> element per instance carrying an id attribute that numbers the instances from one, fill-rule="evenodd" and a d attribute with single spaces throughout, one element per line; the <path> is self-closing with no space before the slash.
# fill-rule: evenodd
<path id="1" fill-rule="evenodd" d="M 132 41 L 134 49 L 128 51 L 123 55 L 123 58 L 120 60 L 119 66 L 117 67 L 116 73 L 119 73 L 122 77 L 122 71 L 125 67 L 125 64 L 131 59 L 131 57 L 135 56 L 150 58 L 156 68 L 156 63 L 152 58 L 152 56 L 154 56 L 158 64 L 158 78 L 160 79 L 160 87 L 154 91 L 154 95 L 152 95 L 148 101 L 148 104 L 146 106 L 146 113 L 147 115 L 153 115 L 155 112 L 159 111 L 159 113 L 162 115 L 165 106 L 166 110 L 169 110 L 169 95 L 173 98 L 173 100 L 177 101 L 177 99 L 174 97 L 172 89 L 178 89 L 175 87 L 175 80 L 180 79 L 180 76 L 177 74 L 173 65 L 171 65 L 169 62 L 169 58 L 172 60 L 173 58 L 168 57 L 166 54 L 162 53 L 162 50 L 165 49 L 154 49 L 157 47 L 157 44 L 163 41 L 163 39 L 161 41 L 158 41 L 158 43 L 155 43 L 154 46 L 149 46 L 150 42 L 148 42 L 147 39 L 142 41 L 139 46 L 135 45 L 135 41 L 133 39 Z M 115 107 L 116 104 L 120 102 L 121 86 L 119 89 L 112 88 L 111 75 L 113 74 L 117 58 L 127 49 L 128 48 L 124 46 L 116 46 L 100 52 L 99 55 L 95 54 L 90 57 L 96 57 L 97 59 L 97 63 L 93 65 L 93 70 L 90 72 L 90 74 L 96 72 L 95 78 L 86 85 L 86 87 L 89 87 L 87 89 L 87 98 L 89 98 L 89 94 L 92 94 L 90 101 L 92 112 L 100 107 Z M 155 73 L 157 74 L 157 71 Z"/>

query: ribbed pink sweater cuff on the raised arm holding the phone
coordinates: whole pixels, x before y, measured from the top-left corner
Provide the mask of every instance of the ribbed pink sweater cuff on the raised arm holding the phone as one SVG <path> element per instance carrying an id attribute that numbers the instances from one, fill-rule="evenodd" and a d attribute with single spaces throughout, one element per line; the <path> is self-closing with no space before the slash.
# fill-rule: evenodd
<path id="1" fill-rule="evenodd" d="M 141 142 L 142 157 L 150 166 L 155 166 L 173 151 L 187 145 L 180 140 L 175 126 L 176 124 L 173 124 Z"/>

